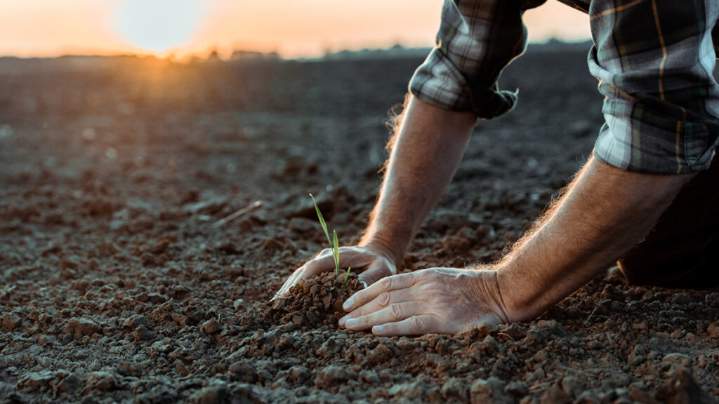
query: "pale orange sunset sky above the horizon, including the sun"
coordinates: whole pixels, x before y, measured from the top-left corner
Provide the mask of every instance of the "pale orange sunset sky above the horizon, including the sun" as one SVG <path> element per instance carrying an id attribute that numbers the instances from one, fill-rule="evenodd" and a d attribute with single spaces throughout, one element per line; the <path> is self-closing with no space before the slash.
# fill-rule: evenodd
<path id="1" fill-rule="evenodd" d="M 141 53 L 216 49 L 287 58 L 365 47 L 431 46 L 441 0 L 0 0 L 0 55 Z M 590 37 L 584 14 L 549 0 L 525 14 L 529 39 Z"/>

